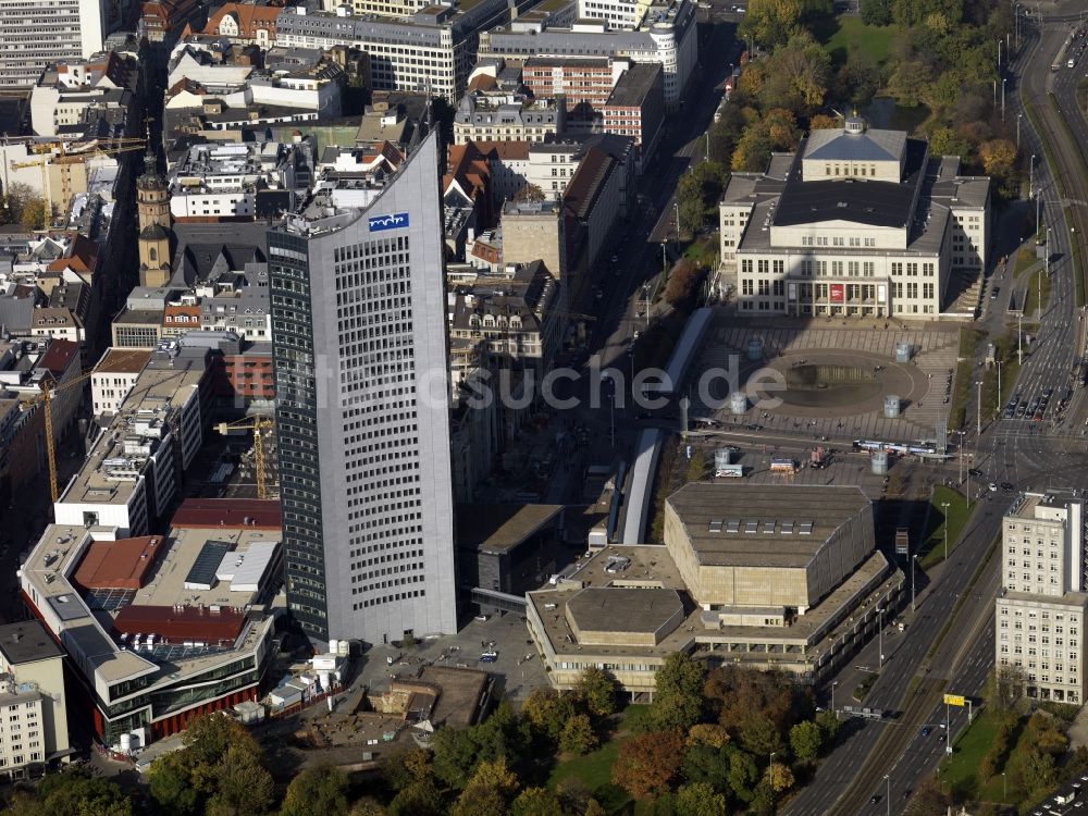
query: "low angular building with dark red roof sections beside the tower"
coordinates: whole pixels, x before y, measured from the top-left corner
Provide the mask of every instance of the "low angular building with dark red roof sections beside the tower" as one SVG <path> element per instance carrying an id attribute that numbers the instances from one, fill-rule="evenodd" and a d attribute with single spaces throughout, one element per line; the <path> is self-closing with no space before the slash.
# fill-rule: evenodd
<path id="1" fill-rule="evenodd" d="M 187 499 L 169 527 L 127 537 L 50 524 L 20 572 L 24 602 L 71 658 L 73 712 L 126 754 L 258 700 L 275 656 L 277 503 Z"/>

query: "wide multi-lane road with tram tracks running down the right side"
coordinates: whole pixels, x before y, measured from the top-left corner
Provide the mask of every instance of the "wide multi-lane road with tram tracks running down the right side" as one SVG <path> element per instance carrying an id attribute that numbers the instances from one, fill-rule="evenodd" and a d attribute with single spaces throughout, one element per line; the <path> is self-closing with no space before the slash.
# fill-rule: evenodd
<path id="1" fill-rule="evenodd" d="M 1068 30 L 1070 26 L 1062 22 L 1044 23 L 1041 30 L 1028 30 L 1024 48 L 1010 66 L 1013 73 L 1007 77 L 1014 88 L 1017 77 L 1023 77 L 1024 96 L 1035 106 L 1044 131 L 1035 134 L 1027 118 L 1022 120 L 1023 137 L 1027 140 L 1025 150 L 1035 152 L 1039 159 L 1035 178 L 1047 202 L 1043 221 L 1050 226 L 1053 275 L 1052 295 L 1040 321 L 1039 337 L 1025 358 L 1016 385 L 1022 398 L 1028 400 L 1046 388 L 1054 388 L 1052 400 L 1056 400 L 1068 383 L 1074 361 L 1084 354 L 1083 310 L 1075 302 L 1071 238 L 1079 237 L 1077 233 L 1083 230 L 1088 238 L 1085 219 L 1088 194 L 1083 189 L 1086 180 L 1073 152 L 1078 148 L 1060 132 L 1047 97 L 1048 86 L 1052 86 L 1074 134 L 1080 144 L 1088 145 L 1088 122 L 1073 98 L 1084 72 L 1063 69 L 1055 77 L 1050 71 Z M 1079 55 L 1075 59 L 1080 65 Z M 1013 115 L 1019 112 L 1015 97 L 1012 109 Z M 1064 198 L 1054 185 L 1052 169 L 1043 161 L 1040 138 L 1047 139 L 1059 164 L 1056 171 L 1065 183 Z M 1066 213 L 1074 228 L 1072 234 L 1065 223 Z M 1086 221 L 1085 227 L 1079 225 L 1081 221 Z M 1011 265 L 991 285 L 1011 285 L 1011 277 L 1004 277 L 1011 275 Z M 984 325 L 996 330 L 1001 321 L 1000 314 L 988 316 Z M 1070 419 L 1061 422 L 1013 418 L 989 424 L 976 441 L 976 467 L 985 470 L 987 480 L 1009 481 L 1018 489 L 1068 486 L 1079 481 L 1074 477 L 1088 467 L 1088 456 L 1083 453 L 1083 411 L 1078 410 L 1078 400 L 1083 399 L 1078 395 L 1065 412 Z M 945 716 L 952 739 L 965 725 L 966 714 L 945 708 L 941 695 L 977 694 L 992 665 L 992 607 L 1000 558 L 992 557 L 991 547 L 1011 500 L 1004 493 L 988 491 L 984 491 L 982 497 L 981 507 L 949 562 L 932 576 L 917 611 L 907 616 L 912 625 L 901 635 L 902 643 L 866 698 L 866 705 L 891 709 L 899 716 L 885 722 L 852 721 L 846 739 L 821 764 L 816 778 L 790 803 L 787 813 L 816 816 L 899 812 L 918 781 L 932 774 L 944 755 L 947 742 L 941 739 L 944 733 L 941 725 Z M 929 654 L 941 632 L 943 640 Z M 858 662 L 864 659 L 860 657 Z M 871 659 L 868 662 L 871 664 Z M 844 671 L 843 676 L 849 673 Z M 849 689 L 843 691 L 849 693 Z M 929 731 L 923 735 L 926 727 Z"/>

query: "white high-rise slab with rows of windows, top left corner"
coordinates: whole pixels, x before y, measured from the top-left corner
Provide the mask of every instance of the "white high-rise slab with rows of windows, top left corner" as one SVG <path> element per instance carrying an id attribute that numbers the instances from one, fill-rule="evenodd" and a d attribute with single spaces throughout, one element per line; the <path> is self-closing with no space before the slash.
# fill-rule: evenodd
<path id="1" fill-rule="evenodd" d="M 0 88 L 29 88 L 54 62 L 101 51 L 124 3 L 0 0 Z"/>

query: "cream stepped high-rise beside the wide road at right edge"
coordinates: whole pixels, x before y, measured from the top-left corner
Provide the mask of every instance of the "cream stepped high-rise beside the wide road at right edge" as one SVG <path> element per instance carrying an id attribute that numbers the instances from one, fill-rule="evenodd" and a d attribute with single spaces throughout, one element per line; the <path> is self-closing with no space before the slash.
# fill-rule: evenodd
<path id="1" fill-rule="evenodd" d="M 1085 700 L 1085 541 L 1071 495 L 1025 493 L 1002 520 L 996 664 L 1033 700 Z"/>

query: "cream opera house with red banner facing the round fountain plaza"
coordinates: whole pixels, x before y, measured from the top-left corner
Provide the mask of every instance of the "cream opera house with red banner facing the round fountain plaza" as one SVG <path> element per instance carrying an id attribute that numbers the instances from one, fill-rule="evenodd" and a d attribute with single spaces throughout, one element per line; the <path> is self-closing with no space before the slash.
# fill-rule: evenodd
<path id="1" fill-rule="evenodd" d="M 846 119 L 775 153 L 765 173 L 734 173 L 721 263 L 741 313 L 936 319 L 953 274 L 987 263 L 990 181 L 959 166 Z"/>

